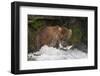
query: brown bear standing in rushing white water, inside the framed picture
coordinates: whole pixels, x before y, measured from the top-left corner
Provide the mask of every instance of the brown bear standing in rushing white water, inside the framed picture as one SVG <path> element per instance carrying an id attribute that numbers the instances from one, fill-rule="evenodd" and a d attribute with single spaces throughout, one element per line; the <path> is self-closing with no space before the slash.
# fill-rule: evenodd
<path id="1" fill-rule="evenodd" d="M 35 47 L 37 50 L 43 45 L 58 48 L 59 44 L 61 44 L 63 47 L 66 47 L 71 35 L 72 30 L 64 26 L 45 26 L 37 32 Z"/>

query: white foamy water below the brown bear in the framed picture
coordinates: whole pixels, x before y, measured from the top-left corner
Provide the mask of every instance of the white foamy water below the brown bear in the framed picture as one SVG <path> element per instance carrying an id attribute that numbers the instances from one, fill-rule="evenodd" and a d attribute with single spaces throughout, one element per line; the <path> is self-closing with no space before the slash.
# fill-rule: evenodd
<path id="1" fill-rule="evenodd" d="M 29 53 L 28 60 L 65 60 L 87 58 L 87 53 L 78 49 L 62 50 L 44 45 L 38 52 Z"/>

